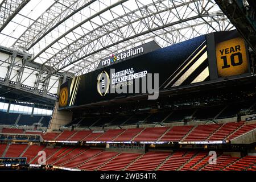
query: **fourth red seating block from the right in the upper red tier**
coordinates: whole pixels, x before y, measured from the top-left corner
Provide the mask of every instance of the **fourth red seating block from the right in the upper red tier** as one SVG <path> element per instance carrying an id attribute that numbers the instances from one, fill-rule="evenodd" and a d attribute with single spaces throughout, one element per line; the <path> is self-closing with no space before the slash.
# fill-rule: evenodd
<path id="1" fill-rule="evenodd" d="M 179 142 L 192 128 L 193 126 L 174 126 L 163 135 L 160 141 Z"/>

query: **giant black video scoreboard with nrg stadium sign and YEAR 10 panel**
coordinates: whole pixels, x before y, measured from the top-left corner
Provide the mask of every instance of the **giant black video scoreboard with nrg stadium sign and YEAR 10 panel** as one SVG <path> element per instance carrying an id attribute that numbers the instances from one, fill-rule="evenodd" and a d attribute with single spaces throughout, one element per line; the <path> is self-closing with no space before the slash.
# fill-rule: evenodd
<path id="1" fill-rule="evenodd" d="M 250 75 L 245 41 L 237 31 L 215 32 L 160 48 L 151 42 L 100 61 L 96 71 L 60 87 L 60 109 L 154 94 Z"/>

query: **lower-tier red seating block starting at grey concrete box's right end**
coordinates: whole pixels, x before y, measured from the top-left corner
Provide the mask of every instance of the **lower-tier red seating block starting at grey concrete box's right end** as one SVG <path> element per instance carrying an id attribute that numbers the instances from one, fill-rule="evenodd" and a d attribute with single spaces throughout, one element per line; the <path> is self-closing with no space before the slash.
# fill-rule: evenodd
<path id="1" fill-rule="evenodd" d="M 170 156 L 167 152 L 147 152 L 141 158 L 135 160 L 127 171 L 154 171 L 161 163 Z"/>

